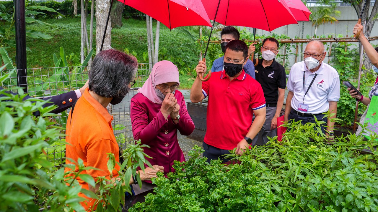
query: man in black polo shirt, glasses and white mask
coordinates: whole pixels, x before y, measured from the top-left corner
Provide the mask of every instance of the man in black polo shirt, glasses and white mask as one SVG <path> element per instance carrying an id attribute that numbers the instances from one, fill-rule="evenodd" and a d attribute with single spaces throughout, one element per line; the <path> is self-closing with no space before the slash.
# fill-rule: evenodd
<path id="1" fill-rule="evenodd" d="M 265 123 L 254 138 L 256 144 L 263 145 L 268 137 L 277 135 L 277 118 L 280 115 L 286 88 L 285 68 L 274 60 L 279 43 L 275 38 L 266 38 L 262 42 L 262 58 L 255 67 L 256 80 L 261 84 L 266 100 Z"/>

